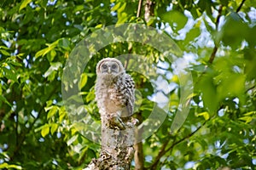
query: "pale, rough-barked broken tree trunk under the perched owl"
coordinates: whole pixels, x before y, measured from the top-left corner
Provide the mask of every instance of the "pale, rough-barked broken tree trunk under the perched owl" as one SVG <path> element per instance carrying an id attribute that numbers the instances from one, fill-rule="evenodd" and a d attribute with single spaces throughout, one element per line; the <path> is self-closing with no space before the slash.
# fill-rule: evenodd
<path id="1" fill-rule="evenodd" d="M 109 126 L 111 120 L 102 116 L 102 150 L 100 157 L 90 161 L 85 170 L 128 170 L 134 156 L 134 122 L 125 122 L 125 129 Z"/>

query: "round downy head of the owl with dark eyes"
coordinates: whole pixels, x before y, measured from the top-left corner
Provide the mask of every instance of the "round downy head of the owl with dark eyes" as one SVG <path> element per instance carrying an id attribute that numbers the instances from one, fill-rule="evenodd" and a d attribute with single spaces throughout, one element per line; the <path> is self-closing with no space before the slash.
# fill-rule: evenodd
<path id="1" fill-rule="evenodd" d="M 119 74 L 124 72 L 124 66 L 119 59 L 105 58 L 96 65 L 96 74 Z"/>

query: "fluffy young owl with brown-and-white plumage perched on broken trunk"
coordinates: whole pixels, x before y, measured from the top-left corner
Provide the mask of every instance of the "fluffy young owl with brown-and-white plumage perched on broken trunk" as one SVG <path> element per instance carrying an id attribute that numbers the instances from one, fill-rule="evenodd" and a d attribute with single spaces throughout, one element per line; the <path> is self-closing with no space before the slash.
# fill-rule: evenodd
<path id="1" fill-rule="evenodd" d="M 105 58 L 96 65 L 96 102 L 110 127 L 125 129 L 134 107 L 135 86 L 119 59 Z"/>

